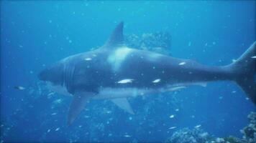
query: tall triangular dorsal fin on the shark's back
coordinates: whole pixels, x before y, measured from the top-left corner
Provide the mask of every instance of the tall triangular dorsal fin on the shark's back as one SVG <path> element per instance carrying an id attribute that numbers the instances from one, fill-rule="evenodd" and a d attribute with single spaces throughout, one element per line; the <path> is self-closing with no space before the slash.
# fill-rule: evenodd
<path id="1" fill-rule="evenodd" d="M 124 22 L 120 22 L 116 26 L 108 41 L 106 41 L 106 43 L 104 44 L 104 48 L 115 48 L 117 46 L 122 46 L 122 44 L 124 44 L 123 27 Z"/>

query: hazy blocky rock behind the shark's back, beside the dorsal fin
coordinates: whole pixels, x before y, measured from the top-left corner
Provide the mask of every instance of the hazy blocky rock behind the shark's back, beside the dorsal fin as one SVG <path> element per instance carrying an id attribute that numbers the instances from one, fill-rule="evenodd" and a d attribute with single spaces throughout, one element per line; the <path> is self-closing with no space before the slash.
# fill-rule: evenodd
<path id="1" fill-rule="evenodd" d="M 170 55 L 171 36 L 168 32 L 146 33 L 140 36 L 131 34 L 125 36 L 124 40 L 131 48 Z"/>

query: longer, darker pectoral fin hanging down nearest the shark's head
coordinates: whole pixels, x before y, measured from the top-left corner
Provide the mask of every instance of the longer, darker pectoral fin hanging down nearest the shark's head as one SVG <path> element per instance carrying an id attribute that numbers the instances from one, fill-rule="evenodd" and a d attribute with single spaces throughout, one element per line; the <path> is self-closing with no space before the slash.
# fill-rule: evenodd
<path id="1" fill-rule="evenodd" d="M 78 114 L 80 114 L 80 112 L 83 110 L 86 102 L 88 101 L 88 97 L 90 97 L 90 94 L 91 93 L 88 92 L 81 92 L 73 95 L 73 101 L 71 102 L 68 110 L 68 125 L 72 124 Z"/>

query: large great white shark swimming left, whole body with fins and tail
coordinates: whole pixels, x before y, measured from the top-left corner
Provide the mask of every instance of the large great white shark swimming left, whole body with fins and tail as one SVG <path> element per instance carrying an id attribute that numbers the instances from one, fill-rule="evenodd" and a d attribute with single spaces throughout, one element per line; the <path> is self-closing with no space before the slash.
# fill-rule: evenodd
<path id="1" fill-rule="evenodd" d="M 68 56 L 38 75 L 53 92 L 73 97 L 68 111 L 72 124 L 88 99 L 111 99 L 134 114 L 127 97 L 171 92 L 191 84 L 236 82 L 256 104 L 256 41 L 232 64 L 206 66 L 190 59 L 177 59 L 124 44 L 123 22 L 104 46 Z"/>

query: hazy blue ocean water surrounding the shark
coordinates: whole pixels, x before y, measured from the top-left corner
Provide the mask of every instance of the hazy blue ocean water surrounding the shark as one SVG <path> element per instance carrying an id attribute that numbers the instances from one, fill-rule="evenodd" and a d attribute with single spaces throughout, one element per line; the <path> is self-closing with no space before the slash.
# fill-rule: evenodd
<path id="1" fill-rule="evenodd" d="M 242 136 L 255 105 L 233 82 L 131 98 L 134 115 L 91 101 L 68 127 L 71 98 L 37 74 L 103 45 L 120 21 L 127 35 L 168 31 L 172 56 L 208 65 L 231 63 L 256 39 L 255 1 L 1 1 L 1 142 L 164 142 L 198 125 Z"/>

